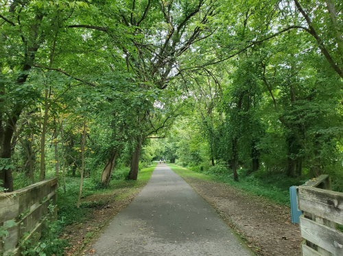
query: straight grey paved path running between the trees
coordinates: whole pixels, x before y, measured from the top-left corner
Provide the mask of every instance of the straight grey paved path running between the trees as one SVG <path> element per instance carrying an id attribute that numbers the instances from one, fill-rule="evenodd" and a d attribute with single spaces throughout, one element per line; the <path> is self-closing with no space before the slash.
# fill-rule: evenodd
<path id="1" fill-rule="evenodd" d="M 158 164 L 149 183 L 92 248 L 99 256 L 254 255 L 215 209 L 165 164 Z"/>

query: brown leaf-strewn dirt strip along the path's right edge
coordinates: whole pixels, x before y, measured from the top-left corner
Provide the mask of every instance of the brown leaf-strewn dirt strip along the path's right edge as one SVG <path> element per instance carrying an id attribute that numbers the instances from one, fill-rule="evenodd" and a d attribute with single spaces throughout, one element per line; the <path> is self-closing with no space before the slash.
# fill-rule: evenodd
<path id="1" fill-rule="evenodd" d="M 300 231 L 289 207 L 225 183 L 182 177 L 210 203 L 252 251 L 263 256 L 300 256 Z"/>

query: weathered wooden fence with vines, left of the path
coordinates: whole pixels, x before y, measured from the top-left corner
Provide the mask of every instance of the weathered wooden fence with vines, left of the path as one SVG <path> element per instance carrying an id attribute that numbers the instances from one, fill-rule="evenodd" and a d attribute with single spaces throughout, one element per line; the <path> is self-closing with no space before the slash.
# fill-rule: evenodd
<path id="1" fill-rule="evenodd" d="M 21 255 L 24 244 L 38 242 L 47 218 L 56 217 L 49 205 L 56 205 L 57 178 L 41 181 L 11 193 L 0 194 L 0 227 L 9 220 L 16 225 L 10 227 L 7 237 L 0 238 L 0 255 Z"/>

